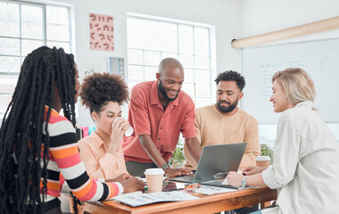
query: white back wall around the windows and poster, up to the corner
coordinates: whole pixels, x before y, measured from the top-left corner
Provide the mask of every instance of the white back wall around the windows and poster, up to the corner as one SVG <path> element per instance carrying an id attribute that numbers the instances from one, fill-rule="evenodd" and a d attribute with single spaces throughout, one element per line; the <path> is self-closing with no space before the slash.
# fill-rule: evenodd
<path id="1" fill-rule="evenodd" d="M 215 26 L 217 71 L 240 70 L 241 54 L 230 43 L 238 36 L 239 1 L 235 0 L 61 0 L 74 5 L 76 61 L 80 78 L 83 72 L 94 68 L 103 70 L 104 57 L 127 59 L 127 12 L 160 16 L 181 21 L 193 21 Z M 114 52 L 89 50 L 88 13 L 113 15 Z M 92 125 L 88 112 L 79 108 L 78 126 Z"/>

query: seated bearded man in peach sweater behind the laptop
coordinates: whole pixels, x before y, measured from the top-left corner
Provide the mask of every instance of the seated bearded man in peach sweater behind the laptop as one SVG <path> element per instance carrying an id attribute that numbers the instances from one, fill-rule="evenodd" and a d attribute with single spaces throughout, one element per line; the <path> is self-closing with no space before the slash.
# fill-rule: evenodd
<path id="1" fill-rule="evenodd" d="M 237 107 L 244 96 L 244 77 L 236 71 L 229 70 L 219 73 L 215 82 L 217 103 L 195 110 L 195 130 L 201 147 L 212 144 L 247 143 L 239 168 L 255 165 L 255 158 L 260 155 L 258 122 Z M 196 168 L 197 162 L 192 156 L 187 152 L 185 156 L 186 161 Z M 186 167 L 190 166 L 187 164 Z"/>

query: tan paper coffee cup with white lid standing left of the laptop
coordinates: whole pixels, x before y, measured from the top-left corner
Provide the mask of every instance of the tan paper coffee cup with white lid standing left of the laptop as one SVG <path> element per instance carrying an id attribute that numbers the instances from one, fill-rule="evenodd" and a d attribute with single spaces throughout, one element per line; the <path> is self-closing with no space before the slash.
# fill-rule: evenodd
<path id="1" fill-rule="evenodd" d="M 161 168 L 145 170 L 148 193 L 158 193 L 162 191 L 162 181 L 165 172 Z"/>

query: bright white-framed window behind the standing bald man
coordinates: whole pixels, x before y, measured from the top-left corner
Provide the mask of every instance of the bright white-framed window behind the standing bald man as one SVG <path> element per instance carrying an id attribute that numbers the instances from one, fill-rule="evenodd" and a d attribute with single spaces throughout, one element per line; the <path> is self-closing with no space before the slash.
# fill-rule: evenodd
<path id="1" fill-rule="evenodd" d="M 185 70 L 182 90 L 196 107 L 211 104 L 215 71 L 211 60 L 211 28 L 128 14 L 128 86 L 154 80 L 159 62 L 178 59 Z"/>

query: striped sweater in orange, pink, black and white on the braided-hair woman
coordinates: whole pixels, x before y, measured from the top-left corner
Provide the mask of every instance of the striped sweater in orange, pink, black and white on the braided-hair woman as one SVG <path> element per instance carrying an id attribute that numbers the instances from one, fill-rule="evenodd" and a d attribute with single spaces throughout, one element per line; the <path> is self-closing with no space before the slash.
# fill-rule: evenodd
<path id="1" fill-rule="evenodd" d="M 45 117 L 47 110 L 48 107 L 45 107 Z M 88 177 L 85 166 L 80 159 L 75 128 L 73 128 L 70 120 L 52 110 L 48 121 L 48 132 L 50 143 L 47 165 L 47 195 L 45 197 L 48 207 L 52 209 L 60 204 L 57 199 L 60 196 L 60 173 L 70 186 L 71 192 L 80 201 L 103 201 L 123 193 L 123 187 L 120 183 L 101 183 Z M 42 187 L 42 184 L 40 187 Z"/>

